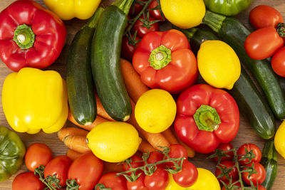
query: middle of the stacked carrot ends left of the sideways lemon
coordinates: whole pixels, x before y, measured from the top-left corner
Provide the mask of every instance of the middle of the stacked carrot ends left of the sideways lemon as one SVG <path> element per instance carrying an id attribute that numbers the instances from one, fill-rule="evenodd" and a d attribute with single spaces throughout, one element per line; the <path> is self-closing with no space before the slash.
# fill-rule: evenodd
<path id="1" fill-rule="evenodd" d="M 64 137 L 63 142 L 66 144 L 66 147 L 73 149 L 76 152 L 85 153 L 90 151 L 86 143 L 86 137 L 84 136 L 69 135 L 67 137 Z"/>

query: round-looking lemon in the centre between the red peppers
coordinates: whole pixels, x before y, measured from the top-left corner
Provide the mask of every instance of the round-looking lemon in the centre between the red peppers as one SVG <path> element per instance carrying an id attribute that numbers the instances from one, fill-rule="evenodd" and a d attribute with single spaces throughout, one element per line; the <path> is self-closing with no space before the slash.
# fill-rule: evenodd
<path id="1" fill-rule="evenodd" d="M 167 130 L 175 120 L 176 103 L 165 90 L 152 89 L 143 93 L 135 105 L 135 120 L 146 132 Z"/>

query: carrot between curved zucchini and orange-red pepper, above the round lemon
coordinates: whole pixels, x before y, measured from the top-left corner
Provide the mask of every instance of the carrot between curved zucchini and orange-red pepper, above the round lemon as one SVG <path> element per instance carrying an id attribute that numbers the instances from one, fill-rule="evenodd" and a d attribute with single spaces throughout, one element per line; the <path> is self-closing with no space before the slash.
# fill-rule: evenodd
<path id="1" fill-rule="evenodd" d="M 130 98 L 135 102 L 138 102 L 138 98 L 150 89 L 142 83 L 140 75 L 135 71 L 132 63 L 128 62 L 128 60 L 123 58 L 120 59 L 120 70 L 123 75 L 125 88 L 127 89 Z"/>

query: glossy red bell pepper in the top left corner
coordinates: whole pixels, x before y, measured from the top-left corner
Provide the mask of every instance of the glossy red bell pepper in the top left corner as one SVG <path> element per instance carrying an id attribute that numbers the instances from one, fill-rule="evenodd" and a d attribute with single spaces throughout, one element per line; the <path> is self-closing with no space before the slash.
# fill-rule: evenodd
<path id="1" fill-rule="evenodd" d="M 15 1 L 0 13 L 0 58 L 11 70 L 46 68 L 65 41 L 63 21 L 35 1 Z"/>

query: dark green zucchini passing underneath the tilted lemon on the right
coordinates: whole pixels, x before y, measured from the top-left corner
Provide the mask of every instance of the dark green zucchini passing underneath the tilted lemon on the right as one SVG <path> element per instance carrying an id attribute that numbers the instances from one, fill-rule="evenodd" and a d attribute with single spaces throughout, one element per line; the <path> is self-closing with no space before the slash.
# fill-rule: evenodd
<path id="1" fill-rule="evenodd" d="M 201 43 L 207 40 L 219 40 L 214 33 L 198 28 L 181 30 L 190 38 L 191 48 L 199 49 Z M 263 139 L 270 139 L 276 132 L 274 115 L 259 90 L 252 82 L 242 65 L 241 75 L 229 93 L 236 100 L 239 112 L 249 121 L 253 130 Z"/>

